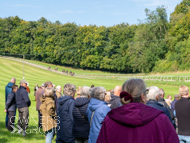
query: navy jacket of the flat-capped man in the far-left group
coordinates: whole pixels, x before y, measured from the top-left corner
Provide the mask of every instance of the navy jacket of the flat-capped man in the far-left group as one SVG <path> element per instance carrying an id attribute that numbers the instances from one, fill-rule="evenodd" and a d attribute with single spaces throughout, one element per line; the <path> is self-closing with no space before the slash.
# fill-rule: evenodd
<path id="1" fill-rule="evenodd" d="M 28 92 L 23 86 L 20 86 L 16 92 L 16 104 L 18 108 L 29 107 L 31 104 Z"/>

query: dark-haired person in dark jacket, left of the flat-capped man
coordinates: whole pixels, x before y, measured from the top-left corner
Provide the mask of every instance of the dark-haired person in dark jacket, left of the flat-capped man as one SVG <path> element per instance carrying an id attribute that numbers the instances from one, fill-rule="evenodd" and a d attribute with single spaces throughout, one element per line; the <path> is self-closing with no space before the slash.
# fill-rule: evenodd
<path id="1" fill-rule="evenodd" d="M 9 93 L 7 97 L 7 102 L 6 102 L 6 108 L 5 112 L 8 112 L 8 126 L 7 129 L 9 131 L 13 131 L 12 126 L 14 126 L 15 122 L 15 112 L 16 112 L 16 99 L 15 99 L 15 92 L 18 89 L 18 85 L 13 85 L 12 86 L 12 91 Z"/>

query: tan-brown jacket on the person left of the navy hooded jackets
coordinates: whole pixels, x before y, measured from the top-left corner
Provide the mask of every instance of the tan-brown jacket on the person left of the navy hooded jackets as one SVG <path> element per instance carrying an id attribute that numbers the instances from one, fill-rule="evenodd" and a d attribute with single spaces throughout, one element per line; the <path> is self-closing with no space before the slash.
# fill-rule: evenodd
<path id="1" fill-rule="evenodd" d="M 57 127 L 57 117 L 55 113 L 54 95 L 42 96 L 40 105 L 40 112 L 42 113 L 42 127 L 43 131 L 49 131 Z"/>

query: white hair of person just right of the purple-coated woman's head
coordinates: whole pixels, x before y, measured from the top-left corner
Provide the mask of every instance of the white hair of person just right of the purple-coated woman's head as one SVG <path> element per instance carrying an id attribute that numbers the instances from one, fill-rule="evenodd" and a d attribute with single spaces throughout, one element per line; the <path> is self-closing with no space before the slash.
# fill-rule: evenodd
<path id="1" fill-rule="evenodd" d="M 150 86 L 149 92 L 147 94 L 148 100 L 156 100 L 156 96 L 160 94 L 159 88 L 157 86 Z"/>

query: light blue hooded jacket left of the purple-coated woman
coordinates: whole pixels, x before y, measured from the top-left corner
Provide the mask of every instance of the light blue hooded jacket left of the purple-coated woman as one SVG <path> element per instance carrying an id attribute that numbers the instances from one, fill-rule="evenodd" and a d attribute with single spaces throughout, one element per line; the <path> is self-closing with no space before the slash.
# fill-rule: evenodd
<path id="1" fill-rule="evenodd" d="M 91 98 L 86 112 L 89 124 L 91 123 L 93 112 L 94 116 L 92 117 L 88 143 L 96 143 L 104 118 L 110 110 L 110 107 L 105 101 Z"/>

